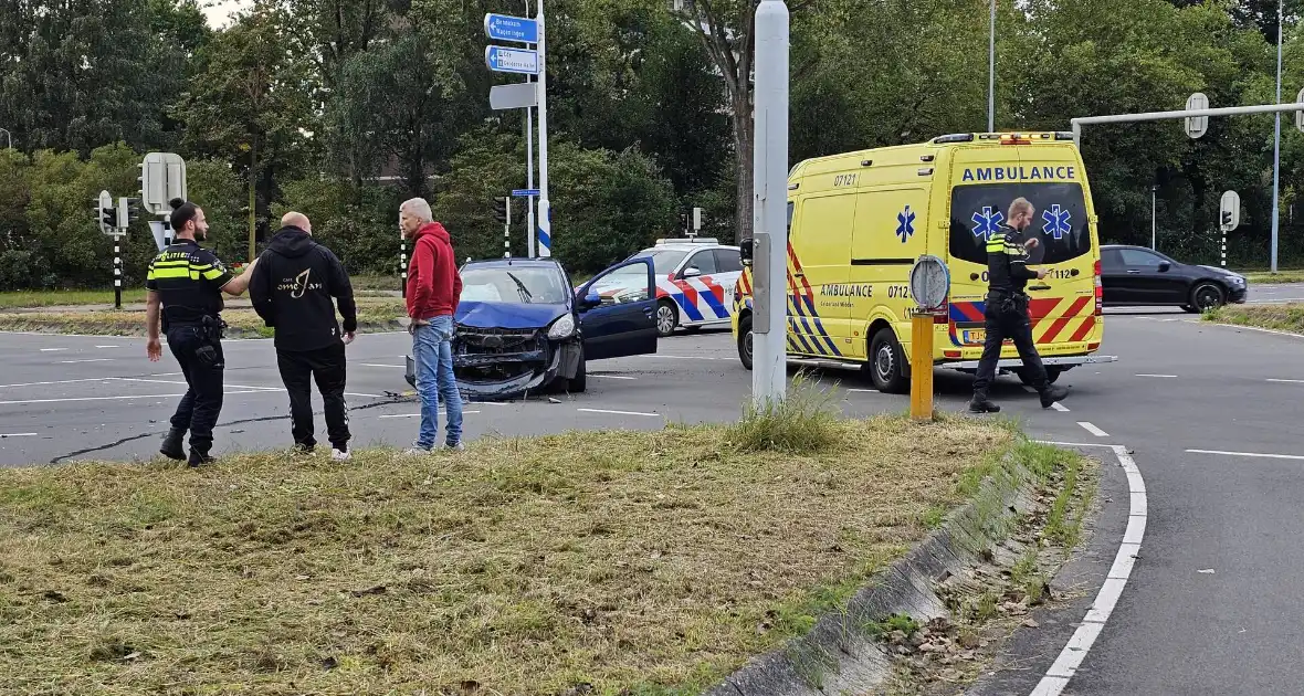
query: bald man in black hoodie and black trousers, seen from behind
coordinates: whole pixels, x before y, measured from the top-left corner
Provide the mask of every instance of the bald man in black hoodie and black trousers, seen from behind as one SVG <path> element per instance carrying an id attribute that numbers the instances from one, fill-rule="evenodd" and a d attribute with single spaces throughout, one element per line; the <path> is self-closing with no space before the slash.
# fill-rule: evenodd
<path id="1" fill-rule="evenodd" d="M 344 405 L 344 344 L 357 331 L 357 305 L 344 266 L 312 237 L 312 224 L 300 212 L 287 212 L 249 283 L 254 312 L 276 330 L 276 364 L 289 391 L 295 447 L 312 451 L 312 379 L 322 392 L 331 456 L 347 460 L 348 409 Z M 335 305 L 344 331 L 335 321 Z"/>

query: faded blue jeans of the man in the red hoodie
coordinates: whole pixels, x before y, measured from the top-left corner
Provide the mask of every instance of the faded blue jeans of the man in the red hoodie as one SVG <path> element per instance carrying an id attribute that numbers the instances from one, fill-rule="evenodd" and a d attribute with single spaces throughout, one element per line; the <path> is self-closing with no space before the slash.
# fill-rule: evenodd
<path id="1" fill-rule="evenodd" d="M 421 398 L 421 434 L 416 446 L 434 447 L 439 430 L 439 400 L 449 412 L 446 444 L 462 442 L 462 395 L 452 377 L 452 317 L 434 317 L 412 334 L 412 362 L 416 364 L 416 392 Z"/>

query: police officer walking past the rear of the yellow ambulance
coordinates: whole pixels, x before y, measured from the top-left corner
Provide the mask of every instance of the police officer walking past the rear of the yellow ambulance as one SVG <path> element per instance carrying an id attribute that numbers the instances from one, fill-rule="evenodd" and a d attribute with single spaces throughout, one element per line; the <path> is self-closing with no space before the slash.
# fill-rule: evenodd
<path id="1" fill-rule="evenodd" d="M 1000 360 L 1001 343 L 1008 338 L 1015 341 L 1024 369 L 1031 373 L 1031 383 L 1042 398 L 1042 408 L 1068 396 L 1064 387 L 1051 386 L 1046 378 L 1046 368 L 1037 355 L 1033 343 L 1033 326 L 1028 317 L 1028 295 L 1024 285 L 1031 278 L 1046 278 L 1045 270 L 1028 268 L 1028 250 L 1035 249 L 1038 240 L 1024 240 L 1024 232 L 1033 223 L 1035 209 L 1026 198 L 1016 198 L 1009 206 L 1009 224 L 987 239 L 987 309 L 983 328 L 987 340 L 983 344 L 982 360 L 978 361 L 978 379 L 974 381 L 974 398 L 969 411 L 974 413 L 995 413 L 1000 407 L 987 399 L 987 388 L 996 377 L 996 361 Z"/>

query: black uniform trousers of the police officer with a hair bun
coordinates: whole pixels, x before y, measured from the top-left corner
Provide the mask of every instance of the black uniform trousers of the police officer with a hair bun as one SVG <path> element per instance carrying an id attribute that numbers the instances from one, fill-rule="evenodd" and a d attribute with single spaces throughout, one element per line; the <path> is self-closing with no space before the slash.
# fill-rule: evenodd
<path id="1" fill-rule="evenodd" d="M 226 357 L 222 339 L 213 328 L 171 326 L 167 345 L 185 375 L 185 396 L 172 416 L 172 428 L 190 431 L 190 450 L 207 455 L 213 448 L 213 428 L 222 414 L 222 378 Z"/>

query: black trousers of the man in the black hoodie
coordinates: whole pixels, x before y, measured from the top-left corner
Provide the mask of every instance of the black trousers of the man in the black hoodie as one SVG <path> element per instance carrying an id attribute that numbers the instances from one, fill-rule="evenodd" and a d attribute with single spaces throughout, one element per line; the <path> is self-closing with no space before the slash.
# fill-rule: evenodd
<path id="1" fill-rule="evenodd" d="M 312 382 L 322 394 L 326 411 L 326 434 L 331 447 L 348 450 L 348 407 L 344 404 L 344 343 L 338 341 L 316 351 L 276 351 L 280 379 L 289 392 L 291 434 L 295 444 L 316 447 L 313 437 Z"/>

